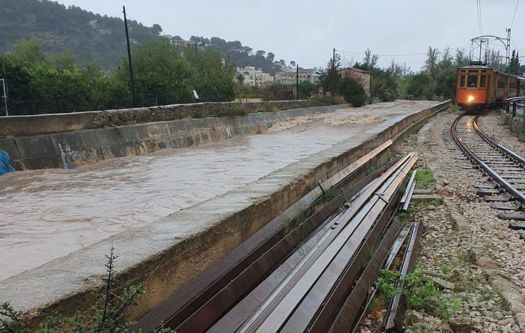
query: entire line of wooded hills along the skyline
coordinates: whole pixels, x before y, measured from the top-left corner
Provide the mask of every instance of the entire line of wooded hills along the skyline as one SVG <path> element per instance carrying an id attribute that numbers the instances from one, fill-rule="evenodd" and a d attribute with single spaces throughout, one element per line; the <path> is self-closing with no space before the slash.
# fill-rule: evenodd
<path id="1" fill-rule="evenodd" d="M 158 24 L 143 26 L 128 17 L 132 42 L 159 39 L 162 28 Z M 21 39 L 36 37 L 44 52 L 60 52 L 71 46 L 81 64 L 96 58 L 104 68 L 116 67 L 120 56 L 126 54 L 124 21 L 121 18 L 101 16 L 77 6 L 66 7 L 48 0 L 2 0 L 0 2 L 0 53 L 9 51 Z M 180 36 L 169 36 L 178 45 Z M 255 66 L 272 75 L 286 65 L 276 61 L 274 53 L 264 50 L 252 52 L 240 41 L 222 38 L 192 36 L 192 42 L 218 50 L 223 57 L 233 59 L 237 66 Z M 293 62 L 292 62 L 293 65 Z"/>

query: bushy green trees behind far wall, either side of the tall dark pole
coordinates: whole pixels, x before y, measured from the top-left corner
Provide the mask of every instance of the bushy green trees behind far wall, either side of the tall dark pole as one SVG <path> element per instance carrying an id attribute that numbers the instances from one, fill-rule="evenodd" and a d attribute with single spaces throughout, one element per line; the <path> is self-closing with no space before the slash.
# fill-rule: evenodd
<path id="1" fill-rule="evenodd" d="M 8 73 L 10 114 L 131 106 L 126 57 L 117 69 L 105 71 L 95 61 L 77 67 L 70 49 L 53 55 L 41 48 L 35 38 L 20 40 L 0 58 Z M 236 70 L 232 63 L 223 65 L 220 53 L 211 49 L 188 47 L 183 51 L 164 39 L 133 47 L 137 106 L 194 102 L 193 90 L 199 101 L 233 100 Z"/>

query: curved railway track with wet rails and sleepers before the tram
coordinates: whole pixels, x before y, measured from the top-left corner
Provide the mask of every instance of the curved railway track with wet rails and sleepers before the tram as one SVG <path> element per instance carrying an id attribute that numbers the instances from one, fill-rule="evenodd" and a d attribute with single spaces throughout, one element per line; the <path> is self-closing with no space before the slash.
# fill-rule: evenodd
<path id="1" fill-rule="evenodd" d="M 499 213 L 498 218 L 525 221 L 525 159 L 486 135 L 478 126 L 479 116 L 464 114 L 457 117 L 451 126 L 450 137 L 445 140 L 453 139 L 463 152 L 462 156 L 456 156 L 460 167 L 476 174 L 481 171 L 481 179 L 476 179 L 474 185 L 477 194 L 485 196 L 487 202 L 494 202 L 492 208 L 510 212 Z M 525 224 L 510 222 L 509 228 L 523 230 Z"/>

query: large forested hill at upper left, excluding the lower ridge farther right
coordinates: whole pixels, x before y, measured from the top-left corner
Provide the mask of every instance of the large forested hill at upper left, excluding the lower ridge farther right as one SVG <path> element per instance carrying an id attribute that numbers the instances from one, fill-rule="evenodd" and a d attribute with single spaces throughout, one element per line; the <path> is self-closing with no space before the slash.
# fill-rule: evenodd
<path id="1" fill-rule="evenodd" d="M 145 27 L 128 19 L 130 38 L 137 42 L 159 38 L 160 25 Z M 0 53 L 20 38 L 35 36 L 43 51 L 62 51 L 71 46 L 82 63 L 97 58 L 103 67 L 117 66 L 125 55 L 124 21 L 93 14 L 80 7 L 66 8 L 48 0 L 2 0 L 0 2 Z"/>

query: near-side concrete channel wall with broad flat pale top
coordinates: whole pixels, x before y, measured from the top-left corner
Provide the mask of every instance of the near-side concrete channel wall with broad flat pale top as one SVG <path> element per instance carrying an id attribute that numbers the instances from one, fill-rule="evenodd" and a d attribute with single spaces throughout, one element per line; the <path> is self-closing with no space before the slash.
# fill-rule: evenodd
<path id="1" fill-rule="evenodd" d="M 12 300 L 15 309 L 29 312 L 34 325 L 50 313 L 72 315 L 86 309 L 103 284 L 104 254 L 113 246 L 119 255 L 119 285 L 147 283 L 139 305 L 127 314 L 136 320 L 307 195 L 318 180 L 393 137 L 395 149 L 449 104 L 387 120 L 246 186 L 1 281 L 0 302 Z"/>

